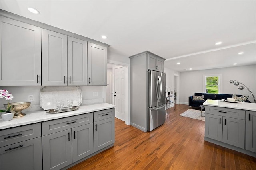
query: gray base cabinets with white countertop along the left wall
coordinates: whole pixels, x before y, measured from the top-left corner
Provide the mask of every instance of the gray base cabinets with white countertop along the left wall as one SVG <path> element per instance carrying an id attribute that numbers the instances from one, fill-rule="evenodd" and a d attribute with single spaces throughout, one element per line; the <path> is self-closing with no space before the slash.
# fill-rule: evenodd
<path id="1" fill-rule="evenodd" d="M 0 169 L 67 169 L 114 146 L 114 107 L 101 103 L 0 119 Z"/>

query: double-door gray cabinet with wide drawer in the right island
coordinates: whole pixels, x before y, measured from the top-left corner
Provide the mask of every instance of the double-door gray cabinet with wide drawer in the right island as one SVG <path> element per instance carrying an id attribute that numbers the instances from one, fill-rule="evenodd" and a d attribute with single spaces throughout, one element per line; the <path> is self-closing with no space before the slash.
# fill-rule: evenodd
<path id="1" fill-rule="evenodd" d="M 245 149 L 245 111 L 206 106 L 205 137 Z"/>

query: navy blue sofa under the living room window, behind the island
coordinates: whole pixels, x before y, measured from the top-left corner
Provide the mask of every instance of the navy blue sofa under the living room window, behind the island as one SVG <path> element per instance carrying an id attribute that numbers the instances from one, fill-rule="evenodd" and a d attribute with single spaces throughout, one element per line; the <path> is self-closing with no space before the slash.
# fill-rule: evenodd
<path id="1" fill-rule="evenodd" d="M 204 95 L 204 100 L 193 100 L 193 96 L 189 96 L 188 97 L 188 106 L 192 106 L 192 107 L 199 107 L 199 105 L 202 105 L 205 100 L 207 99 L 214 99 L 214 100 L 221 100 L 221 99 L 225 99 L 227 100 L 227 98 L 231 98 L 233 96 L 233 94 L 212 94 L 212 93 L 195 93 L 194 96 L 201 96 Z M 243 95 L 241 94 L 237 94 L 236 96 L 241 97 Z M 246 100 L 245 102 L 249 102 L 249 100 Z"/>

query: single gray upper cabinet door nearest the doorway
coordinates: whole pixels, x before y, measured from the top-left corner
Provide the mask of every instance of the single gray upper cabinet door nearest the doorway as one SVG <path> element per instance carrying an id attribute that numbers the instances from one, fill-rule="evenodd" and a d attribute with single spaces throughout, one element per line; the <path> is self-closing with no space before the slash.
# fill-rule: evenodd
<path id="1" fill-rule="evenodd" d="M 107 47 L 88 42 L 87 85 L 107 85 Z"/>

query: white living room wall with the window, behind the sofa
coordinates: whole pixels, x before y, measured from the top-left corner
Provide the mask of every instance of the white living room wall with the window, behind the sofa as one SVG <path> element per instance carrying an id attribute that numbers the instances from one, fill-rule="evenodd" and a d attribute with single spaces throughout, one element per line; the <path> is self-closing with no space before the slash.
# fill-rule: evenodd
<path id="1" fill-rule="evenodd" d="M 245 84 L 256 95 L 256 65 L 236 66 L 210 70 L 187 71 L 180 73 L 180 103 L 188 104 L 188 96 L 195 92 L 204 93 L 204 75 L 222 74 L 222 94 L 248 95 L 253 102 L 252 95 L 246 90 L 239 90 L 238 86 L 230 84 L 229 80 L 237 80 Z"/>

